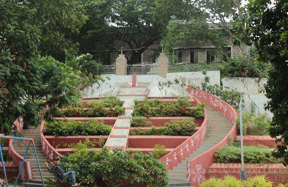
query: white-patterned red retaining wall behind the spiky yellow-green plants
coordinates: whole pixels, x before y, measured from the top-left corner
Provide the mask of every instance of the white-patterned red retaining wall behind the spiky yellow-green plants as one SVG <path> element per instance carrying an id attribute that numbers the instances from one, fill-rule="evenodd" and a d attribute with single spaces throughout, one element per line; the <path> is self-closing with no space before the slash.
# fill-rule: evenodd
<path id="1" fill-rule="evenodd" d="M 213 163 L 207 171 L 207 178 L 222 178 L 226 175 L 240 179 L 241 163 Z M 245 164 L 246 179 L 255 175 L 265 175 L 274 185 L 279 182 L 288 183 L 287 168 L 283 164 Z"/>

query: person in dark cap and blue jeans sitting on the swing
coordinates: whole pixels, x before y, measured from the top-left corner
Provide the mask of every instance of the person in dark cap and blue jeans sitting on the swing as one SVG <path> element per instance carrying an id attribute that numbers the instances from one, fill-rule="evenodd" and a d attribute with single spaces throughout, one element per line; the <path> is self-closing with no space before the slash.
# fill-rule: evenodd
<path id="1" fill-rule="evenodd" d="M 49 168 L 48 163 L 45 162 L 46 167 L 48 168 L 48 171 L 50 173 L 55 172 L 58 176 L 58 178 L 62 181 L 64 180 L 66 177 L 71 177 L 71 182 L 72 182 L 72 186 L 80 186 L 80 183 L 76 183 L 76 178 L 75 178 L 75 171 L 68 171 L 68 172 L 64 172 L 64 170 L 62 169 L 62 167 L 60 165 L 58 165 L 60 162 L 59 157 L 54 157 L 53 162 L 50 162 L 52 164 L 52 167 Z"/>

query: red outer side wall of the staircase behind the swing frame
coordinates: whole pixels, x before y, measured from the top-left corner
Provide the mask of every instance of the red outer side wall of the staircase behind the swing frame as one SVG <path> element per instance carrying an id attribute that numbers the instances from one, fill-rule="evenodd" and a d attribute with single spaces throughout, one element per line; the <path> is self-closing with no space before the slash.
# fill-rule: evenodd
<path id="1" fill-rule="evenodd" d="M 23 129 L 23 119 L 22 117 L 19 117 L 19 120 L 16 120 L 14 122 L 14 125 L 16 125 L 17 127 L 17 130 L 18 132 L 21 132 L 22 129 Z M 28 137 L 29 138 L 29 137 Z M 9 155 L 9 158 L 12 159 L 15 163 L 15 165 L 17 166 L 17 169 L 18 171 L 20 170 L 20 166 L 21 166 L 21 163 L 23 161 L 23 157 L 20 156 L 14 149 L 13 147 L 13 141 L 20 141 L 20 140 L 12 140 L 10 139 L 9 140 L 9 151 L 8 151 L 8 155 Z M 2 164 L 1 164 L 2 165 Z M 7 167 L 7 165 L 5 165 L 5 167 Z M 9 167 L 9 166 L 8 166 Z M 2 168 L 2 167 L 1 167 Z M 6 168 L 5 168 L 6 169 Z M 2 168 L 3 170 L 3 168 Z M 6 169 L 7 170 L 7 169 Z M 18 175 L 18 172 L 15 172 L 13 170 L 13 167 L 10 169 L 12 170 L 11 173 L 10 171 L 7 173 L 7 177 L 10 178 L 10 177 L 16 177 Z M 11 175 L 10 175 L 11 174 Z M 14 175 L 16 174 L 16 175 Z M 20 172 L 20 177 L 19 177 L 19 180 L 21 181 L 24 181 L 24 182 L 28 182 L 30 179 L 33 178 L 33 174 L 32 174 L 32 166 L 31 166 L 31 162 L 30 161 L 27 161 L 25 160 L 24 161 L 24 164 L 23 164 L 23 167 L 22 167 L 22 170 Z"/>

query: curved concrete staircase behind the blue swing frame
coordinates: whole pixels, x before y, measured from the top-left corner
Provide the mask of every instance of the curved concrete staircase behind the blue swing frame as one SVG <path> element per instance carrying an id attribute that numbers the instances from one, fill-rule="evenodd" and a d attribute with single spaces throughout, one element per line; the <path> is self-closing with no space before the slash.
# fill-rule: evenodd
<path id="1" fill-rule="evenodd" d="M 53 179 L 54 175 L 48 171 L 47 167 L 44 164 L 44 162 L 48 162 L 49 165 L 50 165 L 50 161 L 46 158 L 46 156 L 45 156 L 45 154 L 44 154 L 44 152 L 42 151 L 42 148 L 41 148 L 40 125 L 37 128 L 28 127 L 28 129 L 23 129 L 22 130 L 22 134 L 23 134 L 23 137 L 33 138 L 43 179 L 45 179 L 45 178 Z M 20 140 L 14 140 L 14 142 L 13 142 L 13 147 L 14 147 L 15 151 L 18 154 L 20 154 L 22 157 L 24 157 L 24 155 L 25 155 L 25 152 L 26 152 L 26 149 L 27 149 L 27 145 L 28 144 L 26 142 L 21 142 Z M 35 157 L 35 153 L 34 153 L 34 149 L 33 149 L 32 145 L 30 145 L 29 151 L 28 151 L 28 153 L 26 155 L 26 160 L 31 161 L 33 179 L 41 180 L 39 169 L 38 169 L 38 165 L 37 165 L 37 161 L 36 161 L 36 157 Z M 22 184 L 24 184 L 25 186 L 29 186 L 29 187 L 33 187 L 35 185 L 39 186 L 39 183 L 38 184 L 36 184 L 36 183 L 34 184 L 31 181 L 29 183 L 25 183 L 24 182 Z"/>

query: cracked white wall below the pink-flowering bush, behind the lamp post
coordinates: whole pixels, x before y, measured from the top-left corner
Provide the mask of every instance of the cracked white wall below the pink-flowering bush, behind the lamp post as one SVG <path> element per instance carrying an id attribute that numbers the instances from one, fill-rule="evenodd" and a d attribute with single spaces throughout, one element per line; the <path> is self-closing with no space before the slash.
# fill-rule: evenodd
<path id="1" fill-rule="evenodd" d="M 225 86 L 236 89 L 237 91 L 244 92 L 242 96 L 245 100 L 245 107 L 242 109 L 243 112 L 251 112 L 251 100 L 256 104 L 256 113 L 260 112 L 264 114 L 265 112 L 272 117 L 270 111 L 265 111 L 264 105 L 267 103 L 268 98 L 264 93 L 259 93 L 258 89 L 263 88 L 264 84 L 267 83 L 267 78 L 262 78 L 259 83 L 257 83 L 258 78 L 240 78 L 240 77 L 225 77 L 221 79 L 223 84 L 223 89 Z"/>

